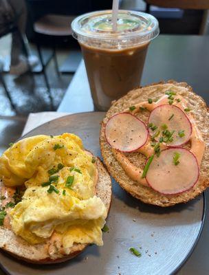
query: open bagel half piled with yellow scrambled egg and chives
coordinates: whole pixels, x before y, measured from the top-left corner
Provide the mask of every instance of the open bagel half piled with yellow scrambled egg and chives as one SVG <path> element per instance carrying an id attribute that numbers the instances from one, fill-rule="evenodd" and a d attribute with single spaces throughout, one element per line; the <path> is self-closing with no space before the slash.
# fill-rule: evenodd
<path id="1" fill-rule="evenodd" d="M 36 135 L 0 157 L 0 248 L 32 263 L 72 259 L 102 245 L 111 179 L 72 133 Z"/>

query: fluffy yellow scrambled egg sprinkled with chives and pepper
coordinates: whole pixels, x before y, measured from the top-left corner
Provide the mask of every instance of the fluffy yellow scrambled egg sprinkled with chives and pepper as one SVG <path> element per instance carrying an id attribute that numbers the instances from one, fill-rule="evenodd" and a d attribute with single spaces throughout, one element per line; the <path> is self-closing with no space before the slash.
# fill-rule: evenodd
<path id="1" fill-rule="evenodd" d="M 5 186 L 25 185 L 10 212 L 12 230 L 29 243 L 57 234 L 65 253 L 74 243 L 102 245 L 107 209 L 96 197 L 97 169 L 74 134 L 36 135 L 0 157 Z"/>

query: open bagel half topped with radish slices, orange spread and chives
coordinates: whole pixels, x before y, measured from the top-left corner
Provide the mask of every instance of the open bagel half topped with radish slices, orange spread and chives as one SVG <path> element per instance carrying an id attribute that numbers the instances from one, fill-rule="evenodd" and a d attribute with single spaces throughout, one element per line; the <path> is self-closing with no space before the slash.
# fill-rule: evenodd
<path id="1" fill-rule="evenodd" d="M 208 187 L 208 129 L 203 99 L 186 83 L 170 80 L 112 102 L 100 148 L 124 190 L 144 203 L 173 206 Z"/>

